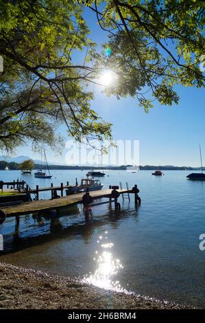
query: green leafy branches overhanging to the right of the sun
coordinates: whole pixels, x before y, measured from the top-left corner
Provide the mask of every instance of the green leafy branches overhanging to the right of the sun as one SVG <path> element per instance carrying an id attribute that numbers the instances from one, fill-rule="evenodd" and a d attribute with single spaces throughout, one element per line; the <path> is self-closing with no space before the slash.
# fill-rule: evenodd
<path id="1" fill-rule="evenodd" d="M 200 69 L 205 54 L 205 1 L 197 0 L 88 0 L 82 1 L 109 32 L 98 55 L 119 81 L 110 93 L 136 96 L 145 111 L 160 104 L 177 104 L 174 86 L 204 87 Z M 145 95 L 147 93 L 147 96 Z"/>

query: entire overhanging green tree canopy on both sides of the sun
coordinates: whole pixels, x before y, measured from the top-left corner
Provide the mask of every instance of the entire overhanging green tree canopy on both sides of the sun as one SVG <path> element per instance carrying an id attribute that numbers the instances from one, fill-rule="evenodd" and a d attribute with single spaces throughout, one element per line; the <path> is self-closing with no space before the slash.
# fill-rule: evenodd
<path id="1" fill-rule="evenodd" d="M 109 34 L 100 53 L 85 8 Z M 0 12 L 0 142 L 8 151 L 27 140 L 62 143 L 63 123 L 76 140 L 110 140 L 88 87 L 105 68 L 117 76 L 106 93 L 136 97 L 145 111 L 153 100 L 177 104 L 177 84 L 204 87 L 205 1 L 0 0 Z"/>

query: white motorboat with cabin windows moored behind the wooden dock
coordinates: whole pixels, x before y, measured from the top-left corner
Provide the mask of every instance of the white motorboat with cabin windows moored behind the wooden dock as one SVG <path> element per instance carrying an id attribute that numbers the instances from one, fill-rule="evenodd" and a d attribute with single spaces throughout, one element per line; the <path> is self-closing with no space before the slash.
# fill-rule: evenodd
<path id="1" fill-rule="evenodd" d="M 82 179 L 80 185 L 77 186 L 70 186 L 67 190 L 66 193 L 67 195 L 69 194 L 74 194 L 77 192 L 86 192 L 86 189 L 88 188 L 88 191 L 92 190 L 101 190 L 103 188 L 104 184 L 101 184 L 99 179 Z"/>

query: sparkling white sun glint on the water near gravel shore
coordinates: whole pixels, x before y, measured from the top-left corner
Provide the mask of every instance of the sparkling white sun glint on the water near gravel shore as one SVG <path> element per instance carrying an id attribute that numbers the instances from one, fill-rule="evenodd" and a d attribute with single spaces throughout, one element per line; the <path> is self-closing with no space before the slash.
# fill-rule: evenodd
<path id="1" fill-rule="evenodd" d="M 128 293 L 128 291 L 121 287 L 118 280 L 113 280 L 113 276 L 118 274 L 119 269 L 123 269 L 121 261 L 114 258 L 111 252 L 114 244 L 107 242 L 107 236 L 99 236 L 97 243 L 99 244 L 99 250 L 96 250 L 93 258 L 97 264 L 97 269 L 95 269 L 93 274 L 90 273 L 84 276 L 82 282 L 107 290 L 123 291 Z"/>

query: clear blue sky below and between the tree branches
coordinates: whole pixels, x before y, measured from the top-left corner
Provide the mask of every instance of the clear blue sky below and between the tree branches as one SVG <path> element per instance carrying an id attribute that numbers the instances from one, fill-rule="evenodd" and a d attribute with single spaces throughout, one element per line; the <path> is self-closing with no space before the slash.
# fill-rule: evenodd
<path id="1" fill-rule="evenodd" d="M 97 25 L 95 14 L 86 10 L 84 16 L 91 29 L 90 37 L 96 43 L 106 41 L 107 35 Z M 95 100 L 91 107 L 104 120 L 112 122 L 114 140 L 139 140 L 141 165 L 199 166 L 199 144 L 205 164 L 205 90 L 178 86 L 176 91 L 180 95 L 178 105 L 167 107 L 156 102 L 148 114 L 138 107 L 136 99 L 107 98 L 99 89 L 95 89 Z M 60 130 L 67 137 L 66 128 L 62 126 Z M 64 164 L 65 153 L 66 148 L 62 156 L 48 150 L 47 157 L 49 161 Z M 39 159 L 30 145 L 18 148 L 16 155 Z"/>

